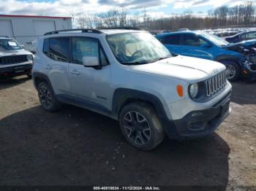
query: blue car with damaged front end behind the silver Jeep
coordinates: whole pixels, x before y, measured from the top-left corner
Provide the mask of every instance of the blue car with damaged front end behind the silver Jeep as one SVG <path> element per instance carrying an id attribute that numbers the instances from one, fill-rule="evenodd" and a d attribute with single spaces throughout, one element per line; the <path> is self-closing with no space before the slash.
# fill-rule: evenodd
<path id="1" fill-rule="evenodd" d="M 255 46 L 256 41 L 230 44 L 213 34 L 200 31 L 182 31 L 155 36 L 170 52 L 178 55 L 218 61 L 227 67 L 227 79 L 235 81 L 241 76 L 256 79 L 255 64 L 245 56 L 245 47 Z"/>

